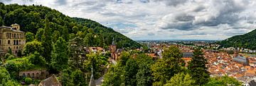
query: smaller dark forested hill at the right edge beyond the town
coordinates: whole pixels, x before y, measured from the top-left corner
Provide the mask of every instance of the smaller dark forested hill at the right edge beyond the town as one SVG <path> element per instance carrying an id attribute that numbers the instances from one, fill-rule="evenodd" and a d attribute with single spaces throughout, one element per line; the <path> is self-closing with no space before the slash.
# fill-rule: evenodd
<path id="1" fill-rule="evenodd" d="M 236 35 L 218 42 L 222 47 L 243 47 L 246 49 L 256 49 L 256 30 L 245 35 Z"/>

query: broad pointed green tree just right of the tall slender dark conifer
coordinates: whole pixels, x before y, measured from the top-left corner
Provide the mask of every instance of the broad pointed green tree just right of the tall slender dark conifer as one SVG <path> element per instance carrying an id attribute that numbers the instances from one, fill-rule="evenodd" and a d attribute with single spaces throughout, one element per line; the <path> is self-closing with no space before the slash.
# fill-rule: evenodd
<path id="1" fill-rule="evenodd" d="M 58 71 L 68 68 L 68 44 L 59 37 L 53 46 L 52 65 Z"/>

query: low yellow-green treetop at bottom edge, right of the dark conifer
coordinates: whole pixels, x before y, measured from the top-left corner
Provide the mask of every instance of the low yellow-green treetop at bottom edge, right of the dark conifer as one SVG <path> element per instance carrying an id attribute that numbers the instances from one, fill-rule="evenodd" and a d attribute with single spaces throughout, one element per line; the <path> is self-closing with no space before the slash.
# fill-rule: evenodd
<path id="1" fill-rule="evenodd" d="M 206 84 L 206 86 L 240 86 L 242 85 L 242 82 L 239 82 L 235 78 L 230 78 L 228 75 L 222 76 L 222 77 L 215 77 L 210 78 L 209 82 Z"/>

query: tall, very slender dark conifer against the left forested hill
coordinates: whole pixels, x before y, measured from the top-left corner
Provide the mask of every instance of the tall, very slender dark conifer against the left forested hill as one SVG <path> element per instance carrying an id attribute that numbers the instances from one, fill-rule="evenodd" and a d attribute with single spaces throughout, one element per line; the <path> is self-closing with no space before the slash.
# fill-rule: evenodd
<path id="1" fill-rule="evenodd" d="M 48 63 L 50 63 L 50 54 L 53 50 L 52 46 L 52 37 L 50 35 L 50 22 L 48 20 L 48 16 L 46 16 L 45 20 L 45 29 L 42 36 L 42 45 L 43 45 L 43 54 L 42 56 L 46 59 Z"/>

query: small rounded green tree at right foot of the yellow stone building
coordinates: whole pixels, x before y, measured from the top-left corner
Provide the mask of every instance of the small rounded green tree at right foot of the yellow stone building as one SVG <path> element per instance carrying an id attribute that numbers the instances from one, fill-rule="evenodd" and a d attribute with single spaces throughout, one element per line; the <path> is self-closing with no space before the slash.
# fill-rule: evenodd
<path id="1" fill-rule="evenodd" d="M 34 54 L 35 52 L 43 52 L 41 42 L 34 40 L 33 42 L 27 42 L 23 49 L 25 55 Z"/>

